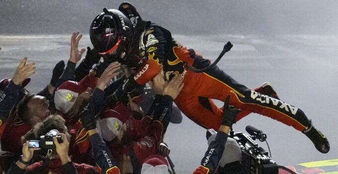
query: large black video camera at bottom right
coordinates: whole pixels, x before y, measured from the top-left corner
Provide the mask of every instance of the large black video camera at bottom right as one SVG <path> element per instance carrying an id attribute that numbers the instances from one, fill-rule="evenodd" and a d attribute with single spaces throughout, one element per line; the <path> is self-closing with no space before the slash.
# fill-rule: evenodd
<path id="1" fill-rule="evenodd" d="M 278 174 L 278 165 L 268 152 L 258 147 L 251 136 L 238 132 L 230 136 L 235 139 L 242 150 L 243 174 Z"/>

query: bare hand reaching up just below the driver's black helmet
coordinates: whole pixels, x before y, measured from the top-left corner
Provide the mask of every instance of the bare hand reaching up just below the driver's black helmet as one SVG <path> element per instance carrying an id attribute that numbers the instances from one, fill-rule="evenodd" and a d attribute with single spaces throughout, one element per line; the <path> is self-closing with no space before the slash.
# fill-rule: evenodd
<path id="1" fill-rule="evenodd" d="M 120 72 L 121 64 L 118 62 L 111 63 L 102 73 L 100 79 L 97 81 L 96 87 L 104 90 L 104 87 L 109 83 L 109 81 L 117 76 Z"/>

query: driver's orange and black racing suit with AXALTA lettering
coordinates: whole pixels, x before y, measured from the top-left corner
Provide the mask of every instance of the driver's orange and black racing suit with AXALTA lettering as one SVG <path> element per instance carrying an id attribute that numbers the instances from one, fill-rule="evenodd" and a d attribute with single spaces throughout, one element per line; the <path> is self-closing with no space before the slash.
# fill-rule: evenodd
<path id="1" fill-rule="evenodd" d="M 137 86 L 144 86 L 163 66 L 167 79 L 173 74 L 184 77 L 184 87 L 174 102 L 188 118 L 202 127 L 216 130 L 220 127 L 222 110 L 212 99 L 224 101 L 227 95 L 231 96 L 230 105 L 242 109 L 237 120 L 254 112 L 299 131 L 310 124 L 301 109 L 239 84 L 217 66 L 203 73 L 187 70 L 185 64 L 201 69 L 210 65 L 210 61 L 194 50 L 181 46 L 163 27 L 147 22 L 139 40 L 139 53 L 134 54 L 139 54 L 146 61 L 115 91 L 116 100 L 126 98 Z"/>

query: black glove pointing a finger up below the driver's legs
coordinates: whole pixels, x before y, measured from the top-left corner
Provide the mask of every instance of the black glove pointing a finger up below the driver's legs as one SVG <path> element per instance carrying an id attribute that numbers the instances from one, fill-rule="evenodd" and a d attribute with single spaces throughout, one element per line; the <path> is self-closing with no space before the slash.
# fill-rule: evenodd
<path id="1" fill-rule="evenodd" d="M 224 101 L 222 125 L 232 127 L 236 123 L 236 116 L 241 112 L 241 109 L 236 109 L 234 106 L 229 105 L 229 100 L 230 95 Z"/>

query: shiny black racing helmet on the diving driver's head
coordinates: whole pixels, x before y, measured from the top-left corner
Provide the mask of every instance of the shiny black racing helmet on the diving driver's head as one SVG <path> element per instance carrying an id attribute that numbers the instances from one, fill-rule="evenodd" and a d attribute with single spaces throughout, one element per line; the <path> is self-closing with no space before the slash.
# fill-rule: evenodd
<path id="1" fill-rule="evenodd" d="M 103 8 L 103 12 L 92 21 L 89 35 L 99 54 L 121 63 L 129 59 L 133 44 L 133 25 L 121 11 Z M 113 51 L 117 54 L 109 55 Z"/>

